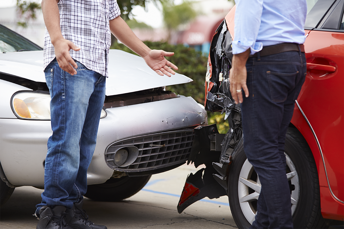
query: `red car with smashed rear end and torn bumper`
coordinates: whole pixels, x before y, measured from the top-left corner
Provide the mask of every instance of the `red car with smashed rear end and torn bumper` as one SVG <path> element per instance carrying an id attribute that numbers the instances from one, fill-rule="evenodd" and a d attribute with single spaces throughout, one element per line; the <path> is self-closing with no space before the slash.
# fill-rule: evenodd
<path id="1" fill-rule="evenodd" d="M 344 225 L 344 0 L 307 4 L 307 77 L 286 136 L 286 173 L 294 228 L 320 229 Z M 188 162 L 206 168 L 189 175 L 178 210 L 205 196 L 228 195 L 233 218 L 244 229 L 254 221 L 261 186 L 243 150 L 240 106 L 228 92 L 234 13 L 211 43 L 205 102 L 208 111 L 226 112 L 230 128 L 226 135 L 214 125 L 195 129 Z"/>

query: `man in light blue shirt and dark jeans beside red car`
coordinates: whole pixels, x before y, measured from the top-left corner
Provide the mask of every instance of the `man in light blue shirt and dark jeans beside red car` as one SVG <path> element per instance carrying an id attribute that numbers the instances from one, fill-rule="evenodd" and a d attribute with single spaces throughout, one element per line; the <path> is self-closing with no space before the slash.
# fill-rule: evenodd
<path id="1" fill-rule="evenodd" d="M 306 0 L 235 0 L 230 92 L 261 183 L 251 229 L 291 229 L 284 140 L 306 74 Z M 244 95 L 244 96 L 243 96 Z"/>

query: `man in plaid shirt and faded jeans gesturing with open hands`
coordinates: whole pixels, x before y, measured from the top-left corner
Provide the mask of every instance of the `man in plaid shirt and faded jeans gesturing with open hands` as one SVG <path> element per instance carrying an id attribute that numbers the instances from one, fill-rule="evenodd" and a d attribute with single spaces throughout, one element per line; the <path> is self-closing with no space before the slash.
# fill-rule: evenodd
<path id="1" fill-rule="evenodd" d="M 117 0 L 42 0 L 46 25 L 44 72 L 51 96 L 51 126 L 37 229 L 106 229 L 82 210 L 87 169 L 105 100 L 111 33 L 155 72 L 178 68 L 163 50 L 144 45 L 119 16 Z"/>

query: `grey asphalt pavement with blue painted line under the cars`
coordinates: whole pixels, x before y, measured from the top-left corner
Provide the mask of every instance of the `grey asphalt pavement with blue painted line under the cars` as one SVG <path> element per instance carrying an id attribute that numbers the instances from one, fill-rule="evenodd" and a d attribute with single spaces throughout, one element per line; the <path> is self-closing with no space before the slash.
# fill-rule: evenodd
<path id="1" fill-rule="evenodd" d="M 177 204 L 187 175 L 199 168 L 182 165 L 152 175 L 147 185 L 122 202 L 96 202 L 85 197 L 84 208 L 90 220 L 108 229 L 231 229 L 237 228 L 230 213 L 228 198 L 204 198 L 178 214 Z M 41 193 L 34 187 L 18 187 L 0 207 L 0 229 L 36 228 L 33 216 Z M 343 226 L 331 229 L 344 229 Z"/>

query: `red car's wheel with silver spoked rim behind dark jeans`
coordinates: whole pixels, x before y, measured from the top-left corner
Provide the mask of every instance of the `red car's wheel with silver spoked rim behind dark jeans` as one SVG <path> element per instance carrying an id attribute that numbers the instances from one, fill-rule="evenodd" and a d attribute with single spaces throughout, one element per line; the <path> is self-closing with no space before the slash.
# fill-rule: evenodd
<path id="1" fill-rule="evenodd" d="M 289 174 L 294 229 L 328 228 L 321 215 L 319 178 L 313 154 L 303 136 L 295 128 L 289 128 L 287 131 L 284 153 Z M 243 178 L 248 181 L 245 182 Z M 260 188 L 253 185 L 257 181 L 257 173 L 248 162 L 241 145 L 228 177 L 229 206 L 239 229 L 248 229 L 254 221 L 260 192 Z M 258 184 L 260 185 L 259 181 Z M 248 195 L 251 195 L 251 198 L 247 198 Z M 239 199 L 243 197 L 245 201 L 240 203 Z"/>

